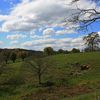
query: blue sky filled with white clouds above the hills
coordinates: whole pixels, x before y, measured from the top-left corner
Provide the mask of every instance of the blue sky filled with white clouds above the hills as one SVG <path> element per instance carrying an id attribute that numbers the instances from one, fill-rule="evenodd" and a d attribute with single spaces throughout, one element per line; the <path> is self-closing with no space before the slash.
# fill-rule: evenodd
<path id="1" fill-rule="evenodd" d="M 76 11 L 71 0 L 0 0 L 0 48 L 55 50 L 84 48 L 83 37 L 100 31 L 100 22 L 88 31 L 77 31 L 79 25 L 67 23 L 65 18 Z M 81 8 L 95 8 L 96 2 L 80 0 Z M 74 28 L 73 28 L 74 27 Z"/>

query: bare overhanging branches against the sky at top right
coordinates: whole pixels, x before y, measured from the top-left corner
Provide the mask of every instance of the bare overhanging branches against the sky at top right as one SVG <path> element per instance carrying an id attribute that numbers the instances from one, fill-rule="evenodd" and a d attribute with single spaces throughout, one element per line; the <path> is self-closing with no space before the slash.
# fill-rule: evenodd
<path id="1" fill-rule="evenodd" d="M 78 24 L 77 29 L 88 29 L 92 23 L 100 20 L 99 0 L 87 0 L 87 2 L 95 2 L 97 7 L 80 8 L 77 4 L 81 0 L 72 0 L 71 6 L 76 6 L 75 11 L 66 18 L 66 23 Z"/>

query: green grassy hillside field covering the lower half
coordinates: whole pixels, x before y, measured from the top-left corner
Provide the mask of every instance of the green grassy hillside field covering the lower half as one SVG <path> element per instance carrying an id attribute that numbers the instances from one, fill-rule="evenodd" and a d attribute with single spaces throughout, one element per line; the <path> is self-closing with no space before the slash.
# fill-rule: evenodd
<path id="1" fill-rule="evenodd" d="M 100 100 L 100 52 L 60 54 L 46 57 L 55 64 L 43 75 L 38 85 L 37 76 L 24 62 L 5 66 L 0 74 L 0 100 Z M 75 63 L 89 65 L 80 70 Z"/>

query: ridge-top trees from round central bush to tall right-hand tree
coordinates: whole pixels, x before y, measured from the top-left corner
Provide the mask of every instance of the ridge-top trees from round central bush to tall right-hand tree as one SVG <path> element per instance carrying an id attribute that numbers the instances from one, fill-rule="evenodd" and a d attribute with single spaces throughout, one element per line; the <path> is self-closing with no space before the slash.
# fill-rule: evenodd
<path id="1" fill-rule="evenodd" d="M 91 32 L 87 36 L 83 37 L 85 41 L 85 48 L 81 51 L 80 49 L 73 48 L 72 50 L 63 50 L 59 49 L 58 51 L 54 51 L 52 47 L 44 48 L 44 53 L 46 55 L 53 55 L 53 54 L 68 54 L 68 53 L 79 53 L 79 52 L 90 52 L 90 51 L 100 51 L 100 35 L 98 32 Z"/>

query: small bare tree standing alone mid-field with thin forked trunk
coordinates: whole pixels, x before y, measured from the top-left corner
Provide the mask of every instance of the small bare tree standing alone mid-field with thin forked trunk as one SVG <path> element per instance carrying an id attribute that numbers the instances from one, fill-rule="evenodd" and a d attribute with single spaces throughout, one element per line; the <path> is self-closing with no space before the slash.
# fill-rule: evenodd
<path id="1" fill-rule="evenodd" d="M 38 77 L 38 83 L 42 83 L 42 75 L 46 72 L 47 68 L 49 67 L 46 61 L 43 58 L 34 59 L 33 61 L 27 61 L 27 64 L 31 66 L 33 72 Z"/>

